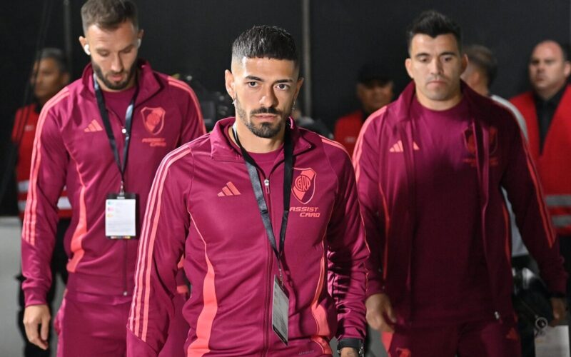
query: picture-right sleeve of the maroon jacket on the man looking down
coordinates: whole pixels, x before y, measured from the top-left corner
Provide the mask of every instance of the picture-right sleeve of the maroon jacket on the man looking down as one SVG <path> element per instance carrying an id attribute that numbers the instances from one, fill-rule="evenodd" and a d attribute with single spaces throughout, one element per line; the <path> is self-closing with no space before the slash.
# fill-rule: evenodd
<path id="1" fill-rule="evenodd" d="M 181 98 L 178 100 L 178 105 L 181 106 L 181 113 L 183 113 L 181 139 L 178 143 L 180 146 L 206 134 L 206 126 L 204 126 L 200 103 L 191 87 L 182 81 L 176 81 L 174 86 L 182 89 L 182 91 L 179 91 L 181 92 Z"/>

